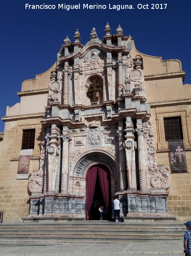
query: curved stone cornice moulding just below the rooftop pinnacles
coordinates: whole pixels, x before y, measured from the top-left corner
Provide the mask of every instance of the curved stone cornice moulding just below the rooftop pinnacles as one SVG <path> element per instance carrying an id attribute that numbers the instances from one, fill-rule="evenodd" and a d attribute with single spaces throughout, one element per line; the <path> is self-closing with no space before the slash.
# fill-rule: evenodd
<path id="1" fill-rule="evenodd" d="M 58 62 L 59 63 L 62 62 L 62 61 L 65 62 L 65 61 L 68 61 L 71 58 L 76 58 L 76 57 L 83 58 L 86 55 L 86 53 L 89 50 L 93 49 L 93 48 L 97 48 L 97 49 L 99 49 L 99 50 L 101 50 L 105 53 L 107 51 L 110 51 L 110 52 L 112 52 L 112 51 L 115 51 L 115 52 L 116 51 L 121 51 L 123 54 L 126 53 L 126 55 L 127 55 L 130 52 L 130 49 L 129 48 L 127 49 L 125 46 L 109 46 L 109 45 L 105 45 L 104 43 L 91 43 L 89 45 L 84 46 L 83 49 L 79 48 L 79 50 L 76 51 L 75 53 L 60 57 Z"/>

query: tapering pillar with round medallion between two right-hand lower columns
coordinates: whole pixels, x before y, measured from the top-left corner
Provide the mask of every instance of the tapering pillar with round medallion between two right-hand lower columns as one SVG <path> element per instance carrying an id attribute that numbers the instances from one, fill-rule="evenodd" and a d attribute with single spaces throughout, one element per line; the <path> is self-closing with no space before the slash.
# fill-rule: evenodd
<path id="1" fill-rule="evenodd" d="M 135 152 L 134 152 L 134 129 L 131 117 L 126 117 L 126 135 L 125 135 L 125 154 L 127 166 L 128 189 L 136 190 L 136 170 L 135 170 Z"/>

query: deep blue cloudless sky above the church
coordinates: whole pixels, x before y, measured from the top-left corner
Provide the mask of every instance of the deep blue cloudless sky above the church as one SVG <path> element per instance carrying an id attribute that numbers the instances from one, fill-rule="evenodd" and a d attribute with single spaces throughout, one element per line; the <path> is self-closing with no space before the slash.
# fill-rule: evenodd
<path id="1" fill-rule="evenodd" d="M 29 5 L 43 4 L 55 8 L 28 8 Z M 63 7 L 80 4 L 80 9 L 59 9 L 58 4 Z M 83 4 L 90 8 L 83 8 Z M 96 4 L 105 9 L 97 9 Z M 91 9 L 91 5 L 95 8 Z M 128 5 L 129 9 L 122 9 L 123 5 Z M 133 9 L 130 9 L 131 5 Z M 67 35 L 74 42 L 78 28 L 81 43 L 85 45 L 94 27 L 102 40 L 107 22 L 112 34 L 117 33 L 120 24 L 123 34 L 132 36 L 139 52 L 162 59 L 180 59 L 182 70 L 187 71 L 183 84 L 191 84 L 190 10 L 191 1 L 187 0 L 2 1 L 0 116 L 5 116 L 6 106 L 20 102 L 16 92 L 21 91 L 24 80 L 35 78 L 55 63 Z M 3 130 L 4 122 L 0 121 L 0 132 Z"/>

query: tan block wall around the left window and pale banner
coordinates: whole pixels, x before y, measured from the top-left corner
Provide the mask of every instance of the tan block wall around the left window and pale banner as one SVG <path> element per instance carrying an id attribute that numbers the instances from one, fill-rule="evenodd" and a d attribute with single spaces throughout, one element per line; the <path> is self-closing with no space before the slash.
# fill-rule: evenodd
<path id="1" fill-rule="evenodd" d="M 26 119 L 5 123 L 5 132 L 0 158 L 0 210 L 4 211 L 3 222 L 19 222 L 29 215 L 28 180 L 17 180 L 18 157 L 21 150 L 22 129 L 36 128 L 35 147 L 32 155 L 39 156 L 40 121 Z M 17 159 L 13 159 L 17 158 Z M 31 159 L 31 170 L 38 170 L 39 160 Z M 15 185 L 12 185 L 15 182 Z"/>

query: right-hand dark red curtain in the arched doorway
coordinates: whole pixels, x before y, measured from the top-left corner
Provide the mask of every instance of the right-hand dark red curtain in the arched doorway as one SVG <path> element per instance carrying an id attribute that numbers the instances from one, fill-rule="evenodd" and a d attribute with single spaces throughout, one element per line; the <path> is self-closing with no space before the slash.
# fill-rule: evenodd
<path id="1" fill-rule="evenodd" d="M 99 172 L 99 183 L 102 189 L 102 195 L 104 197 L 105 205 L 109 207 L 109 180 L 110 173 L 107 170 L 104 170 L 102 167 L 98 167 Z"/>

